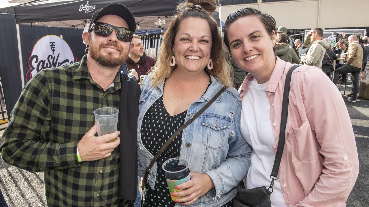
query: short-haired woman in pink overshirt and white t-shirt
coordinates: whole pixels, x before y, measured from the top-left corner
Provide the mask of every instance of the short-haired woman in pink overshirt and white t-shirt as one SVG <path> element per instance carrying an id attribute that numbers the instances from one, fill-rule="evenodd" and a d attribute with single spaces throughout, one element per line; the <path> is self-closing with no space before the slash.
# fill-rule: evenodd
<path id="1" fill-rule="evenodd" d="M 270 184 L 284 81 L 293 66 L 275 56 L 275 28 L 272 16 L 251 7 L 225 22 L 225 44 L 237 65 L 249 72 L 240 88 L 240 128 L 253 148 L 246 189 Z M 297 67 L 272 207 L 346 206 L 358 172 L 354 132 L 340 92 L 317 67 Z"/>

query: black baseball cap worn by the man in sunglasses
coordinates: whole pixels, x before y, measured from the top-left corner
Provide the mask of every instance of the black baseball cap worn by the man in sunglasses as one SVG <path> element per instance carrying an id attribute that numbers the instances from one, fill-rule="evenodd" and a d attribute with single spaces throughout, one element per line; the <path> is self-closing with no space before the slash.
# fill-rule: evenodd
<path id="1" fill-rule="evenodd" d="M 92 18 L 90 21 L 89 32 L 91 31 L 93 23 L 95 23 L 101 17 L 108 14 L 117 15 L 118 17 L 123 18 L 128 24 L 129 27 L 128 29 L 130 29 L 132 32 L 135 32 L 136 21 L 135 18 L 133 17 L 132 12 L 130 11 L 129 8 L 120 3 L 111 3 L 106 5 L 104 8 L 100 8 L 99 10 L 95 11 L 92 14 Z"/>

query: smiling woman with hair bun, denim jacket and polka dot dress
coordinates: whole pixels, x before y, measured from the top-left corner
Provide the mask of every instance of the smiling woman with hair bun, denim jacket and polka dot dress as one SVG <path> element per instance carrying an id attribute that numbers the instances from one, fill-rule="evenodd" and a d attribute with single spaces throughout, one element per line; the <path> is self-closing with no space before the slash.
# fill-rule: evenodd
<path id="1" fill-rule="evenodd" d="M 239 131 L 241 101 L 230 78 L 230 55 L 210 16 L 215 0 L 187 0 L 177 6 L 160 47 L 158 61 L 145 77 L 139 101 L 138 174 L 144 177 L 154 155 L 190 119 L 156 160 L 141 205 L 232 206 L 235 186 L 249 168 L 251 148 Z M 194 115 L 225 87 L 197 119 Z M 169 194 L 163 162 L 189 160 L 190 180 Z M 179 197 L 175 201 L 170 196 Z M 178 203 L 178 204 L 176 204 Z"/>

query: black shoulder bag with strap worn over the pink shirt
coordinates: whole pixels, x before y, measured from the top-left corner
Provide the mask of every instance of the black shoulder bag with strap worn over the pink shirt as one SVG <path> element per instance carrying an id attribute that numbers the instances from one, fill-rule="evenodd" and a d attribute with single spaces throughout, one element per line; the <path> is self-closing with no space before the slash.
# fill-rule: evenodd
<path id="1" fill-rule="evenodd" d="M 284 148 L 284 141 L 286 139 L 286 124 L 287 124 L 287 115 L 288 115 L 288 95 L 290 94 L 290 83 L 291 83 L 291 75 L 292 71 L 299 67 L 299 65 L 294 65 L 288 71 L 286 76 L 286 81 L 284 83 L 284 91 L 283 91 L 283 102 L 282 102 L 282 116 L 280 121 L 280 130 L 279 130 L 279 141 L 278 148 L 276 153 L 276 158 L 274 159 L 272 174 L 270 178 L 272 182 L 268 189 L 265 186 L 255 187 L 253 189 L 246 189 L 244 185 L 244 181 L 242 180 L 237 185 L 236 197 L 233 199 L 233 207 L 271 207 L 270 203 L 270 194 L 273 193 L 273 185 L 274 180 L 278 179 L 278 170 L 280 160 L 282 159 L 282 153 Z M 270 190 L 269 190 L 270 189 Z"/>

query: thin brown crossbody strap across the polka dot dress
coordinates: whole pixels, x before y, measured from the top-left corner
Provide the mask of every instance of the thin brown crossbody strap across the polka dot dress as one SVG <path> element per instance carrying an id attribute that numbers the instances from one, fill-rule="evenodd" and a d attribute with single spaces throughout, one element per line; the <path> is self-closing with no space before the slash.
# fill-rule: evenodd
<path id="1" fill-rule="evenodd" d="M 209 102 L 207 102 L 205 104 L 205 106 L 203 106 L 203 108 L 201 108 L 194 116 L 190 116 L 190 119 L 184 123 L 166 142 L 165 144 L 160 148 L 160 150 L 158 151 L 158 153 L 156 153 L 156 155 L 154 156 L 154 158 L 152 158 L 152 161 L 150 162 L 150 165 L 148 167 L 146 167 L 146 172 L 145 172 L 145 176 L 144 179 L 142 179 L 142 184 L 141 184 L 141 189 L 143 190 L 145 187 L 145 183 L 146 183 L 146 179 L 147 176 L 150 173 L 150 170 L 152 168 L 152 166 L 154 165 L 154 163 L 156 162 L 156 160 L 159 158 L 159 156 L 164 152 L 164 150 L 166 149 L 166 147 L 168 147 L 168 145 L 174 140 L 174 138 L 181 133 L 181 131 L 183 131 L 184 128 L 186 128 L 188 125 L 190 125 L 195 119 L 197 119 L 197 117 L 199 117 L 201 115 L 201 113 L 204 112 L 205 109 L 207 109 L 211 103 L 213 103 L 215 101 L 215 99 L 217 99 L 220 94 L 222 94 L 225 91 L 226 87 L 223 86 L 223 88 L 221 88 L 220 91 L 217 92 L 217 94 L 214 95 L 213 98 L 210 99 Z"/>

